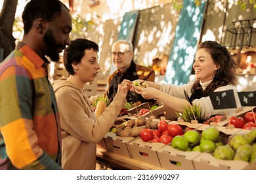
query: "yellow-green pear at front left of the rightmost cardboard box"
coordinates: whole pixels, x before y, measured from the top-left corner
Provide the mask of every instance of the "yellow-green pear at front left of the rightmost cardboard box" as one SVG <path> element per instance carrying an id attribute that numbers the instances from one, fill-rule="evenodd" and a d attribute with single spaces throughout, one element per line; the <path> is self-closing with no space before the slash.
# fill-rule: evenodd
<path id="1" fill-rule="evenodd" d="M 230 146 L 219 146 L 214 151 L 214 157 L 217 159 L 232 160 L 234 150 Z"/>

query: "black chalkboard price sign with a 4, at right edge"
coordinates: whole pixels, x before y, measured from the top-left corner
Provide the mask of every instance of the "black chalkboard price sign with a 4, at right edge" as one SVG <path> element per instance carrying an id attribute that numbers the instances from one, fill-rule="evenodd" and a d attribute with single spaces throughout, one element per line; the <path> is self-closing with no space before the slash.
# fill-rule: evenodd
<path id="1" fill-rule="evenodd" d="M 256 91 L 238 92 L 238 96 L 242 106 L 256 106 Z"/>

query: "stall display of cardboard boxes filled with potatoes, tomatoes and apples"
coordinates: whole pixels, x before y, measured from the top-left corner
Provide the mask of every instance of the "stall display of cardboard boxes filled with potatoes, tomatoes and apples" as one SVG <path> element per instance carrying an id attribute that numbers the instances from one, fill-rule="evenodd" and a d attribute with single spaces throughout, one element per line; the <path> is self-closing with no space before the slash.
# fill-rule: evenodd
<path id="1" fill-rule="evenodd" d="M 164 115 L 159 110 L 164 105 L 153 105 L 144 103 L 120 116 L 103 139 L 106 150 L 164 169 L 256 169 L 256 129 L 244 127 L 255 107 L 232 115 L 244 119 L 242 128 L 232 116 L 205 124 L 173 120 L 174 112 Z M 143 114 L 143 109 L 149 111 Z"/>

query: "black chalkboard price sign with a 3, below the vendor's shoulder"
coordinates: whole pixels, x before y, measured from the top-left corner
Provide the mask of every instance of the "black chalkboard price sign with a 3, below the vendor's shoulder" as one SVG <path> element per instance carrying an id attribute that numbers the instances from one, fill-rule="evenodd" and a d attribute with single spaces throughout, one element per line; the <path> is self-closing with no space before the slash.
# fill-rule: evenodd
<path id="1" fill-rule="evenodd" d="M 216 109 L 226 109 L 226 108 L 236 108 L 236 99 L 234 97 L 233 90 L 226 90 L 221 92 L 209 93 L 211 103 L 213 108 Z"/>

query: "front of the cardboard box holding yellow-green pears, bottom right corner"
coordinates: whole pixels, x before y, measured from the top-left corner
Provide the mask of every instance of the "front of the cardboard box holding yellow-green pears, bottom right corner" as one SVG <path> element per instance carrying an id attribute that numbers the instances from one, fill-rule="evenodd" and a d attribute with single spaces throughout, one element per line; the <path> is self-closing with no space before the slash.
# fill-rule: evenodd
<path id="1" fill-rule="evenodd" d="M 256 162 L 247 163 L 245 161 L 216 159 L 211 154 L 202 153 L 194 158 L 196 170 L 255 170 Z"/>

